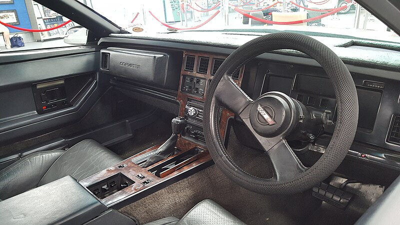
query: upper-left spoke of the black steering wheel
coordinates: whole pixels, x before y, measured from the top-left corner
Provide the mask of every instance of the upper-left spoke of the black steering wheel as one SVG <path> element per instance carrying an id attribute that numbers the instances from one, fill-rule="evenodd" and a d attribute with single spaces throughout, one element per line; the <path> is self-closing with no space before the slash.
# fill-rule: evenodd
<path id="1" fill-rule="evenodd" d="M 235 114 L 239 114 L 252 99 L 226 73 L 223 74 L 215 89 L 214 97 L 219 104 Z"/>

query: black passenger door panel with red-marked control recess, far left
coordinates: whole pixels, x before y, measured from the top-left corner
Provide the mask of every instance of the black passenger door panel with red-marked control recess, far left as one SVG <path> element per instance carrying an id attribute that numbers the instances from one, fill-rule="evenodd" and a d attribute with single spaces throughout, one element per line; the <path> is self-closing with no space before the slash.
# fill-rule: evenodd
<path id="1" fill-rule="evenodd" d="M 97 75 L 99 52 L 94 49 L 87 52 L 83 47 L 79 52 L 73 47 L 49 58 L 42 57 L 48 56 L 43 50 L 29 51 L 27 55 L 38 59 L 10 63 L 4 61 L 13 53 L 1 54 L 0 145 L 41 135 L 88 112 L 104 91 Z"/>

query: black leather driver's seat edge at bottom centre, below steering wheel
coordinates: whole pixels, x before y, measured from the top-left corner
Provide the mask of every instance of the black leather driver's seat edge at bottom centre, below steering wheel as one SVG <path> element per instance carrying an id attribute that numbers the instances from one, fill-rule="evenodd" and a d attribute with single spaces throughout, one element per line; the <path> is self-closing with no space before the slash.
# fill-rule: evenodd
<path id="1" fill-rule="evenodd" d="M 229 225 L 245 224 L 236 216 L 210 199 L 202 200 L 191 208 L 181 219 L 170 216 L 145 225 Z"/>

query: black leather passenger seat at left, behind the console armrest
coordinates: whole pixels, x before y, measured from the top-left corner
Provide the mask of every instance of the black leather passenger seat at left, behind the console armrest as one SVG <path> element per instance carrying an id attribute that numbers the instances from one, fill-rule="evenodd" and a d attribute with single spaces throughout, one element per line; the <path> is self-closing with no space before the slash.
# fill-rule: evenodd
<path id="1" fill-rule="evenodd" d="M 0 170 L 0 199 L 49 183 L 66 175 L 81 180 L 123 158 L 92 139 L 68 150 L 39 151 Z"/>

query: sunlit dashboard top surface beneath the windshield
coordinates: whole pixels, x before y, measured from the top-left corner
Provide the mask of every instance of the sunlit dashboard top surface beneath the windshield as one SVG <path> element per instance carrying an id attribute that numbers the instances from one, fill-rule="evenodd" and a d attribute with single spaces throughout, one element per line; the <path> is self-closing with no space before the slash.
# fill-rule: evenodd
<path id="1" fill-rule="evenodd" d="M 171 41 L 178 43 L 189 43 L 198 45 L 209 45 L 218 46 L 225 48 L 237 48 L 245 42 L 252 40 L 264 33 L 245 34 L 236 32 L 199 32 L 201 38 L 193 39 L 193 33 L 176 32 L 176 33 L 157 33 L 152 36 L 135 36 L 132 34 L 111 34 L 110 37 L 122 37 L 124 39 L 136 39 L 136 40 L 157 40 L 157 41 Z M 107 38 L 103 37 L 99 40 L 99 44 L 103 41 L 107 41 Z M 362 65 L 374 68 L 393 69 L 398 71 L 400 66 L 400 43 L 394 42 L 379 42 L 372 40 L 358 40 L 354 38 L 337 38 L 337 37 L 323 37 L 323 36 L 311 36 L 332 49 L 344 62 Z M 350 46 L 369 46 L 369 48 L 354 48 Z M 387 51 L 391 49 L 394 51 Z M 306 54 L 295 50 L 277 50 L 274 51 L 280 54 L 295 55 L 308 57 Z"/>

